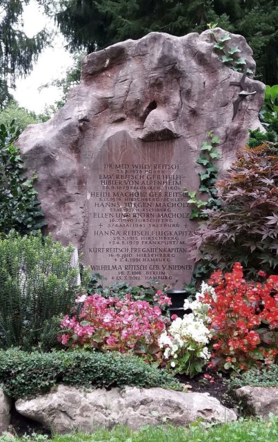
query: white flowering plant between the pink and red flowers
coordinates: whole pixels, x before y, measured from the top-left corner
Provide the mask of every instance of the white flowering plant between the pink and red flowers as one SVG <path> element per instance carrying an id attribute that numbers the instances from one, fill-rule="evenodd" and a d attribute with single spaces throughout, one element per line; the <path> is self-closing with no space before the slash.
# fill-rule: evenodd
<path id="1" fill-rule="evenodd" d="M 201 372 L 210 358 L 206 346 L 211 336 L 206 327 L 208 306 L 199 300 L 203 292 L 208 290 L 208 285 L 203 283 L 201 290 L 200 294 L 196 294 L 195 301 L 186 299 L 184 302 L 183 308 L 191 309 L 192 313 L 184 315 L 183 319 L 175 318 L 168 332 L 163 332 L 159 339 L 159 345 L 164 349 L 166 367 L 172 367 L 177 373 L 188 374 L 190 378 Z"/>

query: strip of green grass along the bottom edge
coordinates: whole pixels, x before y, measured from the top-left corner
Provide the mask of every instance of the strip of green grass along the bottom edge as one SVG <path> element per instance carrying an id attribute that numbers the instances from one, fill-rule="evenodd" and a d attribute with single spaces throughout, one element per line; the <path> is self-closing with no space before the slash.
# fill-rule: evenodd
<path id="1" fill-rule="evenodd" d="M 0 436 L 1 442 L 47 440 L 46 436 L 23 436 L 21 439 Z M 275 442 L 277 440 L 278 417 L 272 415 L 269 422 L 262 419 L 242 419 L 206 428 L 200 423 L 193 423 L 189 428 L 160 426 L 145 427 L 139 431 L 132 431 L 127 427 L 115 427 L 113 430 L 99 430 L 93 434 L 54 435 L 52 442 Z"/>

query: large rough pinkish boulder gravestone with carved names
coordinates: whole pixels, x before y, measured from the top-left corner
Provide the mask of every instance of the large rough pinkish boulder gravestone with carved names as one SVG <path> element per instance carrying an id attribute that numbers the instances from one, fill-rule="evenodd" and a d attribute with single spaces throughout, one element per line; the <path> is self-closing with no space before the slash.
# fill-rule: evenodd
<path id="1" fill-rule="evenodd" d="M 244 88 L 255 95 L 241 100 L 242 73 L 213 49 L 225 33 L 151 32 L 88 55 L 61 111 L 19 138 L 48 231 L 75 244 L 107 284 L 157 279 L 181 289 L 191 278 L 197 222 L 183 189 L 199 188 L 201 144 L 210 131 L 219 137 L 215 164 L 224 173 L 248 129 L 260 126 L 264 100 L 251 78 Z M 230 34 L 228 44 L 254 72 L 244 37 Z"/>

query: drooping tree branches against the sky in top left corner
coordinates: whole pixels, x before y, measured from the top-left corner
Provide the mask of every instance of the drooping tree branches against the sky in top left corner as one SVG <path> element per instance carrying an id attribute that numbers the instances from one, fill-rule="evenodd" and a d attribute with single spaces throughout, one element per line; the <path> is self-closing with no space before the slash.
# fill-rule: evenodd
<path id="1" fill-rule="evenodd" d="M 48 40 L 46 30 L 33 38 L 20 30 L 23 7 L 28 3 L 29 0 L 0 0 L 0 108 L 11 98 L 9 86 L 14 87 L 16 77 L 30 73 Z"/>

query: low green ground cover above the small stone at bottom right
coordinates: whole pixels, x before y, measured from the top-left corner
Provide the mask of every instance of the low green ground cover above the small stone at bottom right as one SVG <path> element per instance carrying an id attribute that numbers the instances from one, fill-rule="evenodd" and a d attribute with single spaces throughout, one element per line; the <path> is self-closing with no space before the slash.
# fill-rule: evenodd
<path id="1" fill-rule="evenodd" d="M 261 368 L 251 368 L 241 376 L 230 378 L 226 381 L 229 388 L 244 387 L 278 387 L 278 365 L 272 364 Z"/>

